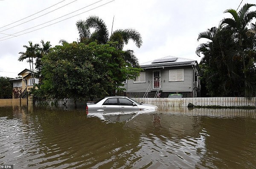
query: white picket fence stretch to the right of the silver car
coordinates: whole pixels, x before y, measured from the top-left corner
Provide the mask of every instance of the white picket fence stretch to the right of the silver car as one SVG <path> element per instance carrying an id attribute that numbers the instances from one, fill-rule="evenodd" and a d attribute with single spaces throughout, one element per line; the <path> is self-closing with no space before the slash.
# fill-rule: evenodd
<path id="1" fill-rule="evenodd" d="M 137 102 L 156 106 L 255 106 L 256 97 L 188 97 L 188 98 L 132 98 Z"/>

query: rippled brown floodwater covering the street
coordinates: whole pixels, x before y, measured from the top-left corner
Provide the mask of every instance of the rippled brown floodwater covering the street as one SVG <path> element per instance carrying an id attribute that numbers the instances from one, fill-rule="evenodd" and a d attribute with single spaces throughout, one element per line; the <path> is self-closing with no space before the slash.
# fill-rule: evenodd
<path id="1" fill-rule="evenodd" d="M 15 169 L 255 169 L 256 112 L 0 107 L 0 165 Z"/>

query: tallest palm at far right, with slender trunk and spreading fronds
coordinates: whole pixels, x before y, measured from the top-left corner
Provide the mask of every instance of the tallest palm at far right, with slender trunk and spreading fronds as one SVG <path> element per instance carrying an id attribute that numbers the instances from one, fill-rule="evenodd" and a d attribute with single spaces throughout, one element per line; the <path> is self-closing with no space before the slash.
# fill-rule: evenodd
<path id="1" fill-rule="evenodd" d="M 237 12 L 234 9 L 228 9 L 224 13 L 232 14 L 233 18 L 225 18 L 221 21 L 221 25 L 234 31 L 234 38 L 239 45 L 239 55 L 242 57 L 243 72 L 244 72 L 244 93 L 245 96 L 249 96 L 250 84 L 247 79 L 247 67 L 245 63 L 245 50 L 248 48 L 248 43 L 250 43 L 250 36 L 254 35 L 256 32 L 253 29 L 249 29 L 248 25 L 256 17 L 256 11 L 249 11 L 250 7 L 256 6 L 255 4 L 244 4 L 244 6 Z"/>

